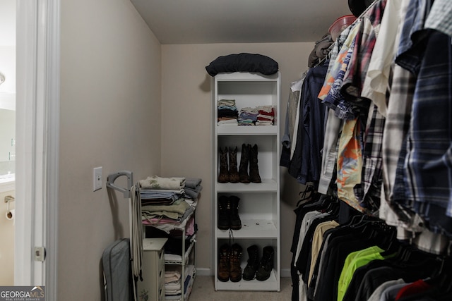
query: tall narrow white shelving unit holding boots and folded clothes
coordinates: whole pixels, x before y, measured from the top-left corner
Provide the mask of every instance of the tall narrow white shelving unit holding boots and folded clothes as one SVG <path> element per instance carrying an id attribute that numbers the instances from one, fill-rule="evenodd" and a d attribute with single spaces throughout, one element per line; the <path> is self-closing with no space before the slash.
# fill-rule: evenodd
<path id="1" fill-rule="evenodd" d="M 273 125 L 218 125 L 218 100 L 234 99 L 237 109 L 273 106 Z M 220 73 L 213 80 L 213 207 L 215 235 L 215 290 L 271 290 L 280 291 L 280 74 Z M 258 146 L 258 171 L 262 183 L 218 183 L 218 149 L 237 147 L 240 164 L 242 144 Z M 218 198 L 222 195 L 239 197 L 239 216 L 242 228 L 232 231 L 233 242 L 242 249 L 241 266 L 246 266 L 246 248 L 258 245 L 275 250 L 273 271 L 266 281 L 218 280 L 218 249 L 230 242 L 230 231 L 217 227 Z"/>

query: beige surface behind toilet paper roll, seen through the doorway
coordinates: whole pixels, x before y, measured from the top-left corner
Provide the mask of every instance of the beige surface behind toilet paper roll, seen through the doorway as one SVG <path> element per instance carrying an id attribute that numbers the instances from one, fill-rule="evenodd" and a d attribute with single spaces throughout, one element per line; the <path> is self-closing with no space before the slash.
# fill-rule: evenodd
<path id="1" fill-rule="evenodd" d="M 8 205 L 4 202 L 7 195 L 16 197 L 12 191 L 0 192 L 0 286 L 14 285 L 14 223 L 6 219 Z M 9 209 L 14 209 L 16 202 L 10 202 Z"/>

